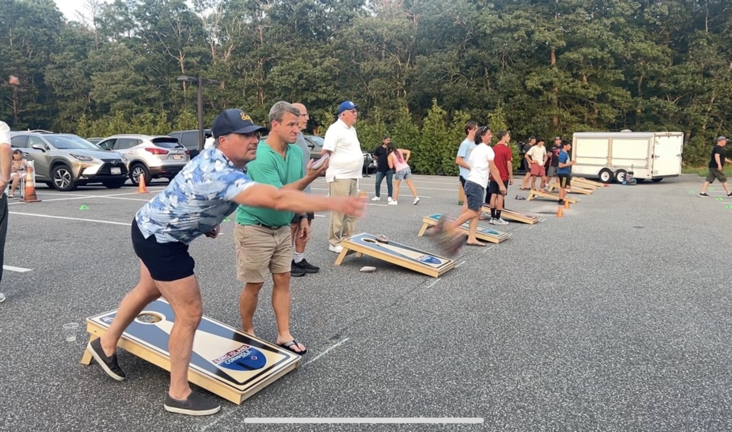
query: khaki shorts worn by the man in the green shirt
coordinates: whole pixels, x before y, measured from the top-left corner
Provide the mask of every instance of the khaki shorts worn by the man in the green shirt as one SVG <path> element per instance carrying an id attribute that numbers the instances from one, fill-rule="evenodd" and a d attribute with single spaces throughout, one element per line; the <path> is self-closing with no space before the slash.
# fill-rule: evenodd
<path id="1" fill-rule="evenodd" d="M 236 278 L 247 283 L 264 282 L 269 273 L 289 273 L 292 269 L 290 226 L 270 228 L 261 225 L 234 227 Z"/>

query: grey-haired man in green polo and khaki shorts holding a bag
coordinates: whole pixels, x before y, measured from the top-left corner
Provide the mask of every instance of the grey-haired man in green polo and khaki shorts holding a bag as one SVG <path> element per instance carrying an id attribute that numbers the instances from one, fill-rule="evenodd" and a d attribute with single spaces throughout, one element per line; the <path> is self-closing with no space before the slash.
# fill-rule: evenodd
<path id="1" fill-rule="evenodd" d="M 260 141 L 257 157 L 247 164 L 247 175 L 255 182 L 281 189 L 303 190 L 325 171 L 303 167 L 302 150 L 293 143 L 297 139 L 300 111 L 286 102 L 278 102 L 269 110 L 270 132 Z M 309 156 L 309 155 L 308 155 Z M 311 161 L 312 163 L 312 161 Z M 308 165 L 309 166 L 309 165 Z M 297 354 L 307 349 L 290 333 L 290 272 L 292 238 L 290 223 L 293 212 L 259 207 L 239 206 L 236 210 L 234 243 L 236 245 L 236 277 L 244 282 L 239 297 L 242 329 L 254 335 L 253 317 L 264 276 L 272 273 L 272 308 L 277 319 L 277 345 Z M 307 215 L 301 223 L 307 225 Z"/>

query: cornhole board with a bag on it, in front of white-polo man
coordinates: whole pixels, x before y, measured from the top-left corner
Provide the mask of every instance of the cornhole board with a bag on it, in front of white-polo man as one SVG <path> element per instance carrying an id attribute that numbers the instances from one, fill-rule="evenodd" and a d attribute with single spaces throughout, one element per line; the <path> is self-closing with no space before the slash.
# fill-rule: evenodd
<path id="1" fill-rule="evenodd" d="M 346 258 L 348 254 L 355 253 L 356 258 L 362 255 L 372 256 L 433 278 L 439 278 L 455 268 L 455 261 L 452 259 L 433 255 L 397 242 L 377 242 L 376 236 L 373 234 L 356 234 L 343 239 L 340 245 L 343 246 L 343 250 L 335 260 L 337 266 L 340 266 L 343 258 Z"/>

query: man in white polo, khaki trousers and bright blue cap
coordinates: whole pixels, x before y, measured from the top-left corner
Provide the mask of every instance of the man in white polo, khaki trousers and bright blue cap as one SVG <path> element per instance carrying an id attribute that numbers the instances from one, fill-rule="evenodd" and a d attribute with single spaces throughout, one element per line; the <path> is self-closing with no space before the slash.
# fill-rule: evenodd
<path id="1" fill-rule="evenodd" d="M 358 116 L 359 106 L 346 100 L 338 106 L 338 119 L 325 133 L 322 153 L 330 154 L 325 180 L 328 183 L 328 192 L 333 197 L 358 193 L 364 165 L 361 143 L 354 128 Z M 340 253 L 343 250 L 343 246 L 340 245 L 341 239 L 354 235 L 355 230 L 355 217 L 331 212 L 328 250 Z"/>

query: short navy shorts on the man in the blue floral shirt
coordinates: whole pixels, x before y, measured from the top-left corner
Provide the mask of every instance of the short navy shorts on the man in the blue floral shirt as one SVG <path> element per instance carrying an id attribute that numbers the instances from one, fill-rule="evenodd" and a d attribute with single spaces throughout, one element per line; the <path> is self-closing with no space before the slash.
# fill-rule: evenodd
<path id="1" fill-rule="evenodd" d="M 193 275 L 195 261 L 184 242 L 159 243 L 154 235 L 145 238 L 132 218 L 132 247 L 142 260 L 153 280 L 170 282 Z"/>

